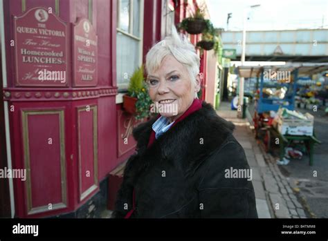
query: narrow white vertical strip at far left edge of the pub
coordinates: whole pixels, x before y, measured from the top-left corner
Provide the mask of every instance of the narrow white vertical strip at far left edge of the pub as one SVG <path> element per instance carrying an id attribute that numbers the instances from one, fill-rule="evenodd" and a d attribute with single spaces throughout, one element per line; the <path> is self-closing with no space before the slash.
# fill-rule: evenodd
<path id="1" fill-rule="evenodd" d="M 6 69 L 6 46 L 5 46 L 5 28 L 4 28 L 4 15 L 3 15 L 3 0 L 0 0 L 0 30 L 1 30 L 1 60 L 2 60 L 2 79 L 3 88 L 7 85 L 7 69 Z M 3 102 L 4 115 L 5 115 L 5 128 L 6 128 L 6 146 L 7 146 L 7 160 L 8 168 L 12 169 L 11 160 L 11 146 L 10 146 L 10 131 L 9 131 L 9 113 L 8 113 L 8 102 Z M 10 211 L 11 217 L 15 216 L 15 197 L 14 197 L 14 184 L 12 178 L 9 181 L 9 193 L 10 193 Z"/>

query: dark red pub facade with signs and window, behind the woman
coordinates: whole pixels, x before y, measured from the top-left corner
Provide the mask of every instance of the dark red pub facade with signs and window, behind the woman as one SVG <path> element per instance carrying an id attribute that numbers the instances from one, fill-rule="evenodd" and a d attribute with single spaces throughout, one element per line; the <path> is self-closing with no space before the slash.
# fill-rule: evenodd
<path id="1" fill-rule="evenodd" d="M 203 4 L 0 0 L 0 168 L 21 171 L 1 178 L 1 217 L 99 215 L 114 198 L 111 172 L 136 146 L 131 130 L 139 122 L 122 108 L 127 76 Z M 215 66 L 204 52 L 202 99 Z"/>

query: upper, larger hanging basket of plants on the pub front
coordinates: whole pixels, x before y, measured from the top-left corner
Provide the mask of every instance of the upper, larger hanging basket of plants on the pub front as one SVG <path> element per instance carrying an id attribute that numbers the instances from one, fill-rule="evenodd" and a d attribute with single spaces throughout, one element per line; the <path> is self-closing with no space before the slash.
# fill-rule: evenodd
<path id="1" fill-rule="evenodd" d="M 206 20 L 201 10 L 197 9 L 194 17 L 183 19 L 183 21 L 179 23 L 179 28 L 190 33 L 190 35 L 198 35 L 203 32 L 203 30 L 206 29 Z"/>

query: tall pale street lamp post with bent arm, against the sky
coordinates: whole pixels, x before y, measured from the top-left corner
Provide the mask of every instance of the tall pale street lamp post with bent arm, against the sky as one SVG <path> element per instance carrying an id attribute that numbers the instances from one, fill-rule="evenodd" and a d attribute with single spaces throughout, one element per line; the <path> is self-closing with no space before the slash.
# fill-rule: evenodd
<path id="1" fill-rule="evenodd" d="M 245 52 L 246 52 L 246 17 L 248 10 L 251 8 L 257 8 L 261 6 L 260 4 L 250 6 L 248 8 L 244 8 L 243 10 L 243 42 L 242 42 L 242 59 L 241 66 L 245 64 Z M 244 108 L 244 77 L 239 78 L 239 99 L 238 99 L 238 108 L 237 108 L 237 117 L 243 117 L 243 108 Z"/>

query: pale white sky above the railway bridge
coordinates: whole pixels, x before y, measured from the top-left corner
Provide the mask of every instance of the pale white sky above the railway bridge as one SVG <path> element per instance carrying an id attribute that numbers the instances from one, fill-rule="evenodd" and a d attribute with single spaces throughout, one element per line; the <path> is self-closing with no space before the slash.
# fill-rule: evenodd
<path id="1" fill-rule="evenodd" d="M 328 28 L 328 0 L 206 0 L 215 28 L 243 28 L 243 10 L 248 9 L 247 30 Z M 260 4 L 257 8 L 249 6 Z"/>

